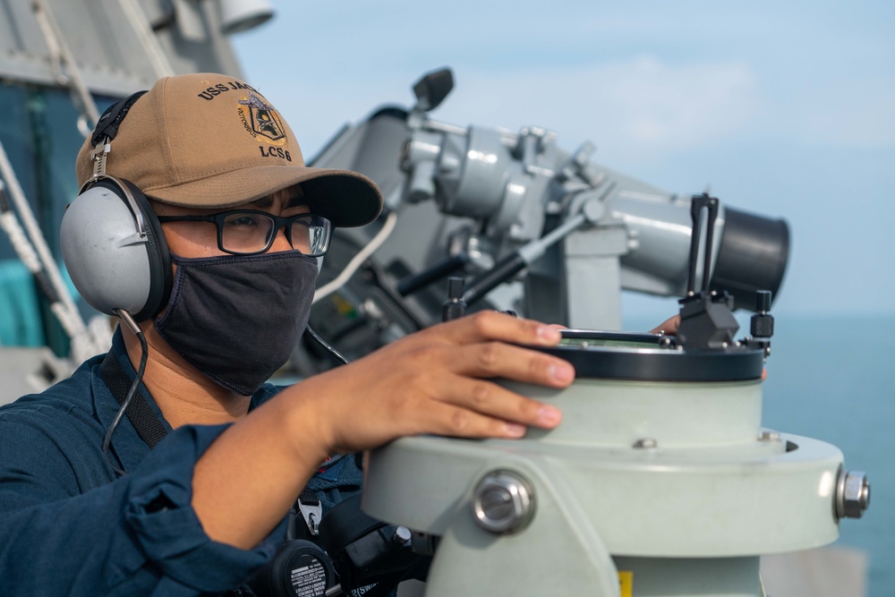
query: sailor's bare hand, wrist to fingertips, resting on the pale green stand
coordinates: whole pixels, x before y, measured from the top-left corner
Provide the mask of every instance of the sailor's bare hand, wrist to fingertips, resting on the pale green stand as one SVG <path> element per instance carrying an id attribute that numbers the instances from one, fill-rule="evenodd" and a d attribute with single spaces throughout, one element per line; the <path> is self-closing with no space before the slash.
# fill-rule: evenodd
<path id="1" fill-rule="evenodd" d="M 556 345 L 558 327 L 481 311 L 401 338 L 362 359 L 298 384 L 320 397 L 317 417 L 334 451 L 373 448 L 405 435 L 518 438 L 555 427 L 561 414 L 492 378 L 565 388 L 562 359 L 520 345 Z"/>

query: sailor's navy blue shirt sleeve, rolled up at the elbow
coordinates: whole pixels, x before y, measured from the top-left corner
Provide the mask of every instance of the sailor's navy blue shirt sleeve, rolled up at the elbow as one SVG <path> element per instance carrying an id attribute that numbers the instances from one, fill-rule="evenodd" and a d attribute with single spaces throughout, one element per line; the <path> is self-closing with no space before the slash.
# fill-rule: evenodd
<path id="1" fill-rule="evenodd" d="M 193 465 L 221 426 L 175 431 L 112 482 L 78 415 L 0 413 L 4 595 L 219 593 L 273 554 L 279 536 L 253 550 L 209 541 L 189 507 Z"/>

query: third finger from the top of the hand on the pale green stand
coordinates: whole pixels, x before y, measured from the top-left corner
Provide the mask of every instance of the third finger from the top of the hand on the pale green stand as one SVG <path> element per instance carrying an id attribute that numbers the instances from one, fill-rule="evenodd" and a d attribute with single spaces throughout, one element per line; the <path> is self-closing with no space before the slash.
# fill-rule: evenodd
<path id="1" fill-rule="evenodd" d="M 559 409 L 500 386 L 490 380 L 459 378 L 441 401 L 474 414 L 503 422 L 553 428 L 562 419 Z"/>

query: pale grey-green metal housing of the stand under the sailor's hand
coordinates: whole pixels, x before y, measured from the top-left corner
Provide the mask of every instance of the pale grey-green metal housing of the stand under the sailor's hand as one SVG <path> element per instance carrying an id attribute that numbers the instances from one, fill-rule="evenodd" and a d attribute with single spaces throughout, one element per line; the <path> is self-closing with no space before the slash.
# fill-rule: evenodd
<path id="1" fill-rule="evenodd" d="M 440 537 L 427 595 L 758 597 L 761 555 L 839 536 L 840 450 L 764 430 L 758 380 L 507 385 L 564 422 L 521 441 L 400 439 L 366 464 L 366 512 Z M 536 504 L 514 533 L 476 524 L 475 491 L 500 471 Z"/>

